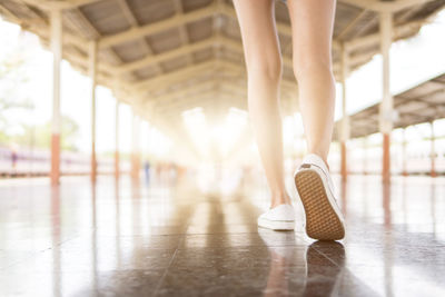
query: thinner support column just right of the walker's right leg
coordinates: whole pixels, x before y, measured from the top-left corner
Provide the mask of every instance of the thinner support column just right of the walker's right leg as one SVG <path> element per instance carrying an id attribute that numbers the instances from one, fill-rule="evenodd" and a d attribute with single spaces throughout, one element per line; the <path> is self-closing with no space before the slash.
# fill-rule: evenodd
<path id="1" fill-rule="evenodd" d="M 349 117 L 346 111 L 346 101 L 347 101 L 347 95 L 346 95 L 346 79 L 349 75 L 349 65 L 348 65 L 348 51 L 343 46 L 342 48 L 342 131 L 340 131 L 340 151 L 342 151 L 342 167 L 340 167 L 340 174 L 342 174 L 342 179 L 346 181 L 347 179 L 347 140 L 349 139 L 350 135 L 350 127 L 349 127 Z"/>

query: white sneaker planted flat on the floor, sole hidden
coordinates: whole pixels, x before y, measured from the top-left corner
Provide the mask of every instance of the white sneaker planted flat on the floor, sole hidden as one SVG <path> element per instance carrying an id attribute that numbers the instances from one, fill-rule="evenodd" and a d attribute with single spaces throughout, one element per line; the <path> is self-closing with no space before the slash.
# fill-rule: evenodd
<path id="1" fill-rule="evenodd" d="M 291 205 L 279 205 L 258 217 L 258 226 L 273 230 L 294 230 L 295 210 Z"/>

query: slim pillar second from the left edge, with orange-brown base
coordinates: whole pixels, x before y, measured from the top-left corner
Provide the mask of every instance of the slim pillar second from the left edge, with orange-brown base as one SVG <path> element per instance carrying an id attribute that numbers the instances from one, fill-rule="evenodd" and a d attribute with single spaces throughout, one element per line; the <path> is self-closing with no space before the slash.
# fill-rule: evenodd
<path id="1" fill-rule="evenodd" d="M 89 44 L 89 76 L 91 79 L 91 181 L 97 178 L 96 159 L 96 82 L 97 82 L 97 42 Z"/>

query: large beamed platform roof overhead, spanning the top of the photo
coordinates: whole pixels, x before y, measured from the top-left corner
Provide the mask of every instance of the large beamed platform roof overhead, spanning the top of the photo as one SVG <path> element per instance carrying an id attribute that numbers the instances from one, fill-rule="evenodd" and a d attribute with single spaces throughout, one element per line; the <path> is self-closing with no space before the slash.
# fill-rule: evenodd
<path id="1" fill-rule="evenodd" d="M 445 0 L 338 0 L 334 71 L 342 50 L 354 70 L 379 51 L 379 12 L 392 11 L 394 39 L 413 37 Z M 63 58 L 88 73 L 88 50 L 99 50 L 98 82 L 111 88 L 141 117 L 165 128 L 184 110 L 202 107 L 211 118 L 246 108 L 243 44 L 228 0 L 1 0 L 4 19 L 50 40 L 50 11 L 62 9 Z M 284 56 L 281 102 L 297 110 L 291 70 L 291 30 L 286 6 L 276 2 Z M 355 125 L 354 125 L 355 126 Z"/>

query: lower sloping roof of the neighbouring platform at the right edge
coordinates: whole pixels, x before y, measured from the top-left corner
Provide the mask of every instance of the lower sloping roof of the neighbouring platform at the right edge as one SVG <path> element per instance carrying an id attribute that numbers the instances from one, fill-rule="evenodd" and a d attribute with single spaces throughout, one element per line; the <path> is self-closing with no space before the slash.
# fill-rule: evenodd
<path id="1" fill-rule="evenodd" d="M 349 116 L 350 137 L 378 132 L 379 105 L 369 106 Z M 445 118 L 445 73 L 426 80 L 394 96 L 394 128 L 405 128 Z M 338 138 L 340 122 L 336 122 L 334 138 Z"/>

